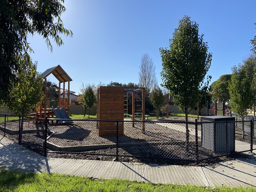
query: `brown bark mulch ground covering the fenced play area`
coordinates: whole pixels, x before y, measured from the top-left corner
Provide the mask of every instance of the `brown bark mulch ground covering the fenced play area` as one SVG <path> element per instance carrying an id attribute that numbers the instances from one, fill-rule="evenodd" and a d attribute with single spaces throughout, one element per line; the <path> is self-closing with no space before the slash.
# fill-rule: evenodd
<path id="1" fill-rule="evenodd" d="M 180 120 L 176 118 L 174 121 Z M 194 120 L 194 118 L 193 118 Z M 136 124 L 132 127 L 131 123 L 124 123 L 124 135 L 118 137 L 119 144 L 133 143 L 132 146 L 123 146 L 118 148 L 118 160 L 125 162 L 143 162 L 143 163 L 157 163 L 157 164 L 179 164 L 179 165 L 199 165 L 205 166 L 214 164 L 223 160 L 229 160 L 235 156 L 220 157 L 210 160 L 201 161 L 199 164 L 190 161 L 183 161 L 180 159 L 195 159 L 195 146 L 190 145 L 189 151 L 185 150 L 185 125 L 175 124 L 181 130 L 171 129 L 164 126 L 164 123 L 146 123 L 145 134 L 142 134 L 141 124 Z M 183 127 L 183 128 L 182 128 Z M 18 130 L 18 123 L 12 123 L 6 125 L 6 128 L 11 130 Z M 43 155 L 43 142 L 44 133 L 38 130 L 44 129 L 44 124 L 33 124 L 24 122 L 24 130 L 33 129 L 34 133 L 22 135 L 22 145 L 30 150 Z M 81 146 L 81 145 L 99 145 L 99 144 L 115 144 L 115 136 L 98 136 L 98 128 L 94 121 L 75 121 L 74 124 L 48 124 L 48 129 L 54 132 L 49 142 L 52 142 L 58 146 Z M 1 132 L 2 134 L 2 132 Z M 18 141 L 18 135 L 6 135 L 6 137 Z M 200 139 L 200 138 L 199 138 Z M 191 136 L 190 141 L 194 138 Z M 142 144 L 143 143 L 143 144 Z M 163 144 L 167 143 L 167 144 Z M 170 144 L 172 143 L 172 144 Z M 48 149 L 50 150 L 50 149 Z M 116 160 L 116 148 L 107 148 L 100 150 L 86 151 L 83 153 L 47 153 L 48 157 L 55 158 L 76 158 L 76 159 L 93 159 L 93 160 Z M 215 154 L 199 148 L 200 158 L 213 157 Z M 147 158 L 139 158 L 134 156 L 144 156 Z M 158 158 L 171 158 L 171 160 L 165 159 L 152 159 L 151 157 Z"/>

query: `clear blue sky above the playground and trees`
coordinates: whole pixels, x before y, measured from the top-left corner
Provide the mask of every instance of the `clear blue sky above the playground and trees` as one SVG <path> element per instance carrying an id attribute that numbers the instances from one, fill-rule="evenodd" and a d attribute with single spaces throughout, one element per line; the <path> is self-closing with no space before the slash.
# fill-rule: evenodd
<path id="1" fill-rule="evenodd" d="M 29 37 L 38 61 L 38 72 L 60 64 L 72 78 L 70 90 L 79 92 L 82 82 L 138 83 L 140 57 L 149 54 L 162 82 L 159 48 L 169 47 L 178 20 L 184 15 L 199 25 L 208 42 L 212 64 L 211 82 L 231 74 L 234 65 L 250 54 L 256 34 L 256 1 L 208 0 L 66 0 L 61 18 L 73 38 L 63 37 L 63 46 L 52 41 L 51 53 L 40 36 Z M 48 80 L 58 81 L 54 76 Z M 66 84 L 67 88 L 67 84 Z"/>

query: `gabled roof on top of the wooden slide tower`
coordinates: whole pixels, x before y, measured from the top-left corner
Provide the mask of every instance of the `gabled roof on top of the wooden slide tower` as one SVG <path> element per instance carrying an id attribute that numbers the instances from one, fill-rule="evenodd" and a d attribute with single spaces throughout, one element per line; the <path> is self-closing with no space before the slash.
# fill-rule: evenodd
<path id="1" fill-rule="evenodd" d="M 68 74 L 62 69 L 62 67 L 60 65 L 49 68 L 45 72 L 42 73 L 43 78 L 46 78 L 50 74 L 53 74 L 56 77 L 56 79 L 61 83 L 67 82 L 67 81 L 72 81 L 70 76 L 68 76 Z"/>

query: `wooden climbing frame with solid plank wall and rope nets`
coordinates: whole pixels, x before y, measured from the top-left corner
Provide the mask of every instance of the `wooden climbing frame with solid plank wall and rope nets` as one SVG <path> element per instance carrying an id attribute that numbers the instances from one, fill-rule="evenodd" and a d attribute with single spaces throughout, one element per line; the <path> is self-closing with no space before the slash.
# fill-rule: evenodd
<path id="1" fill-rule="evenodd" d="M 132 92 L 132 121 L 136 116 L 140 116 L 142 121 L 145 120 L 145 88 L 100 86 L 97 92 L 97 120 L 112 121 L 97 122 L 99 136 L 116 135 L 115 120 L 123 121 L 124 114 L 128 113 L 127 92 Z M 142 122 L 142 132 L 144 131 L 145 123 Z M 124 134 L 124 122 L 118 122 L 118 133 Z"/>

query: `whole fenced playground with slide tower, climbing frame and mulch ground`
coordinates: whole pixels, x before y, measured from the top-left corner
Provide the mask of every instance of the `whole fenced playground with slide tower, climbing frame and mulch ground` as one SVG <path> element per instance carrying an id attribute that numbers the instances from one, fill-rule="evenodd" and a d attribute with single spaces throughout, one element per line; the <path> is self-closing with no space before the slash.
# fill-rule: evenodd
<path id="1" fill-rule="evenodd" d="M 62 107 L 50 107 L 46 100 L 46 78 L 49 74 L 53 74 L 59 80 L 59 93 L 61 83 L 63 83 L 65 92 L 65 82 L 68 82 L 67 100 L 64 96 L 62 102 L 58 100 L 58 106 Z M 166 109 L 166 118 L 163 121 L 160 119 L 146 120 L 145 88 L 100 86 L 97 91 L 96 120 L 74 120 L 69 117 L 70 103 L 67 102 L 69 82 L 72 79 L 60 66 L 46 70 L 43 78 L 45 82 L 44 102 L 23 123 L 22 139 L 31 149 L 36 148 L 50 156 L 60 153 L 61 156 L 80 154 L 81 156 L 110 156 L 112 158 L 119 156 L 126 160 L 155 158 L 188 162 L 197 162 L 230 153 L 225 147 L 215 152 L 203 146 L 202 136 L 204 140 L 211 136 L 202 134 L 203 124 L 195 122 L 195 118 L 187 123 L 180 119 L 176 119 L 178 122 L 175 122 L 174 118 L 168 118 L 169 112 Z M 166 102 L 169 102 L 167 96 Z M 218 115 L 218 112 L 226 115 L 224 102 L 222 110 L 220 105 L 221 103 L 215 102 L 214 106 L 208 106 L 207 102 L 206 108 L 209 109 L 207 115 L 209 111 L 209 115 L 211 113 Z M 128 114 L 132 114 L 129 115 L 131 121 L 124 121 L 125 115 L 127 117 Z M 54 116 L 55 118 L 52 118 Z M 231 127 L 233 125 L 234 123 Z M 1 130 L 3 131 L 4 128 L 4 132 L 21 142 L 19 126 L 20 122 L 12 122 L 5 124 L 4 127 L 1 126 Z M 204 125 L 207 134 L 208 129 L 212 129 L 213 126 L 215 123 Z M 187 132 L 189 134 L 186 134 Z M 246 138 L 248 138 L 247 135 Z M 211 142 L 211 139 L 208 140 Z M 252 143 L 250 139 L 241 140 L 239 134 L 236 135 L 237 146 L 243 146 L 241 147 L 243 151 L 250 148 L 250 142 Z M 237 146 L 236 151 L 241 151 Z"/>

